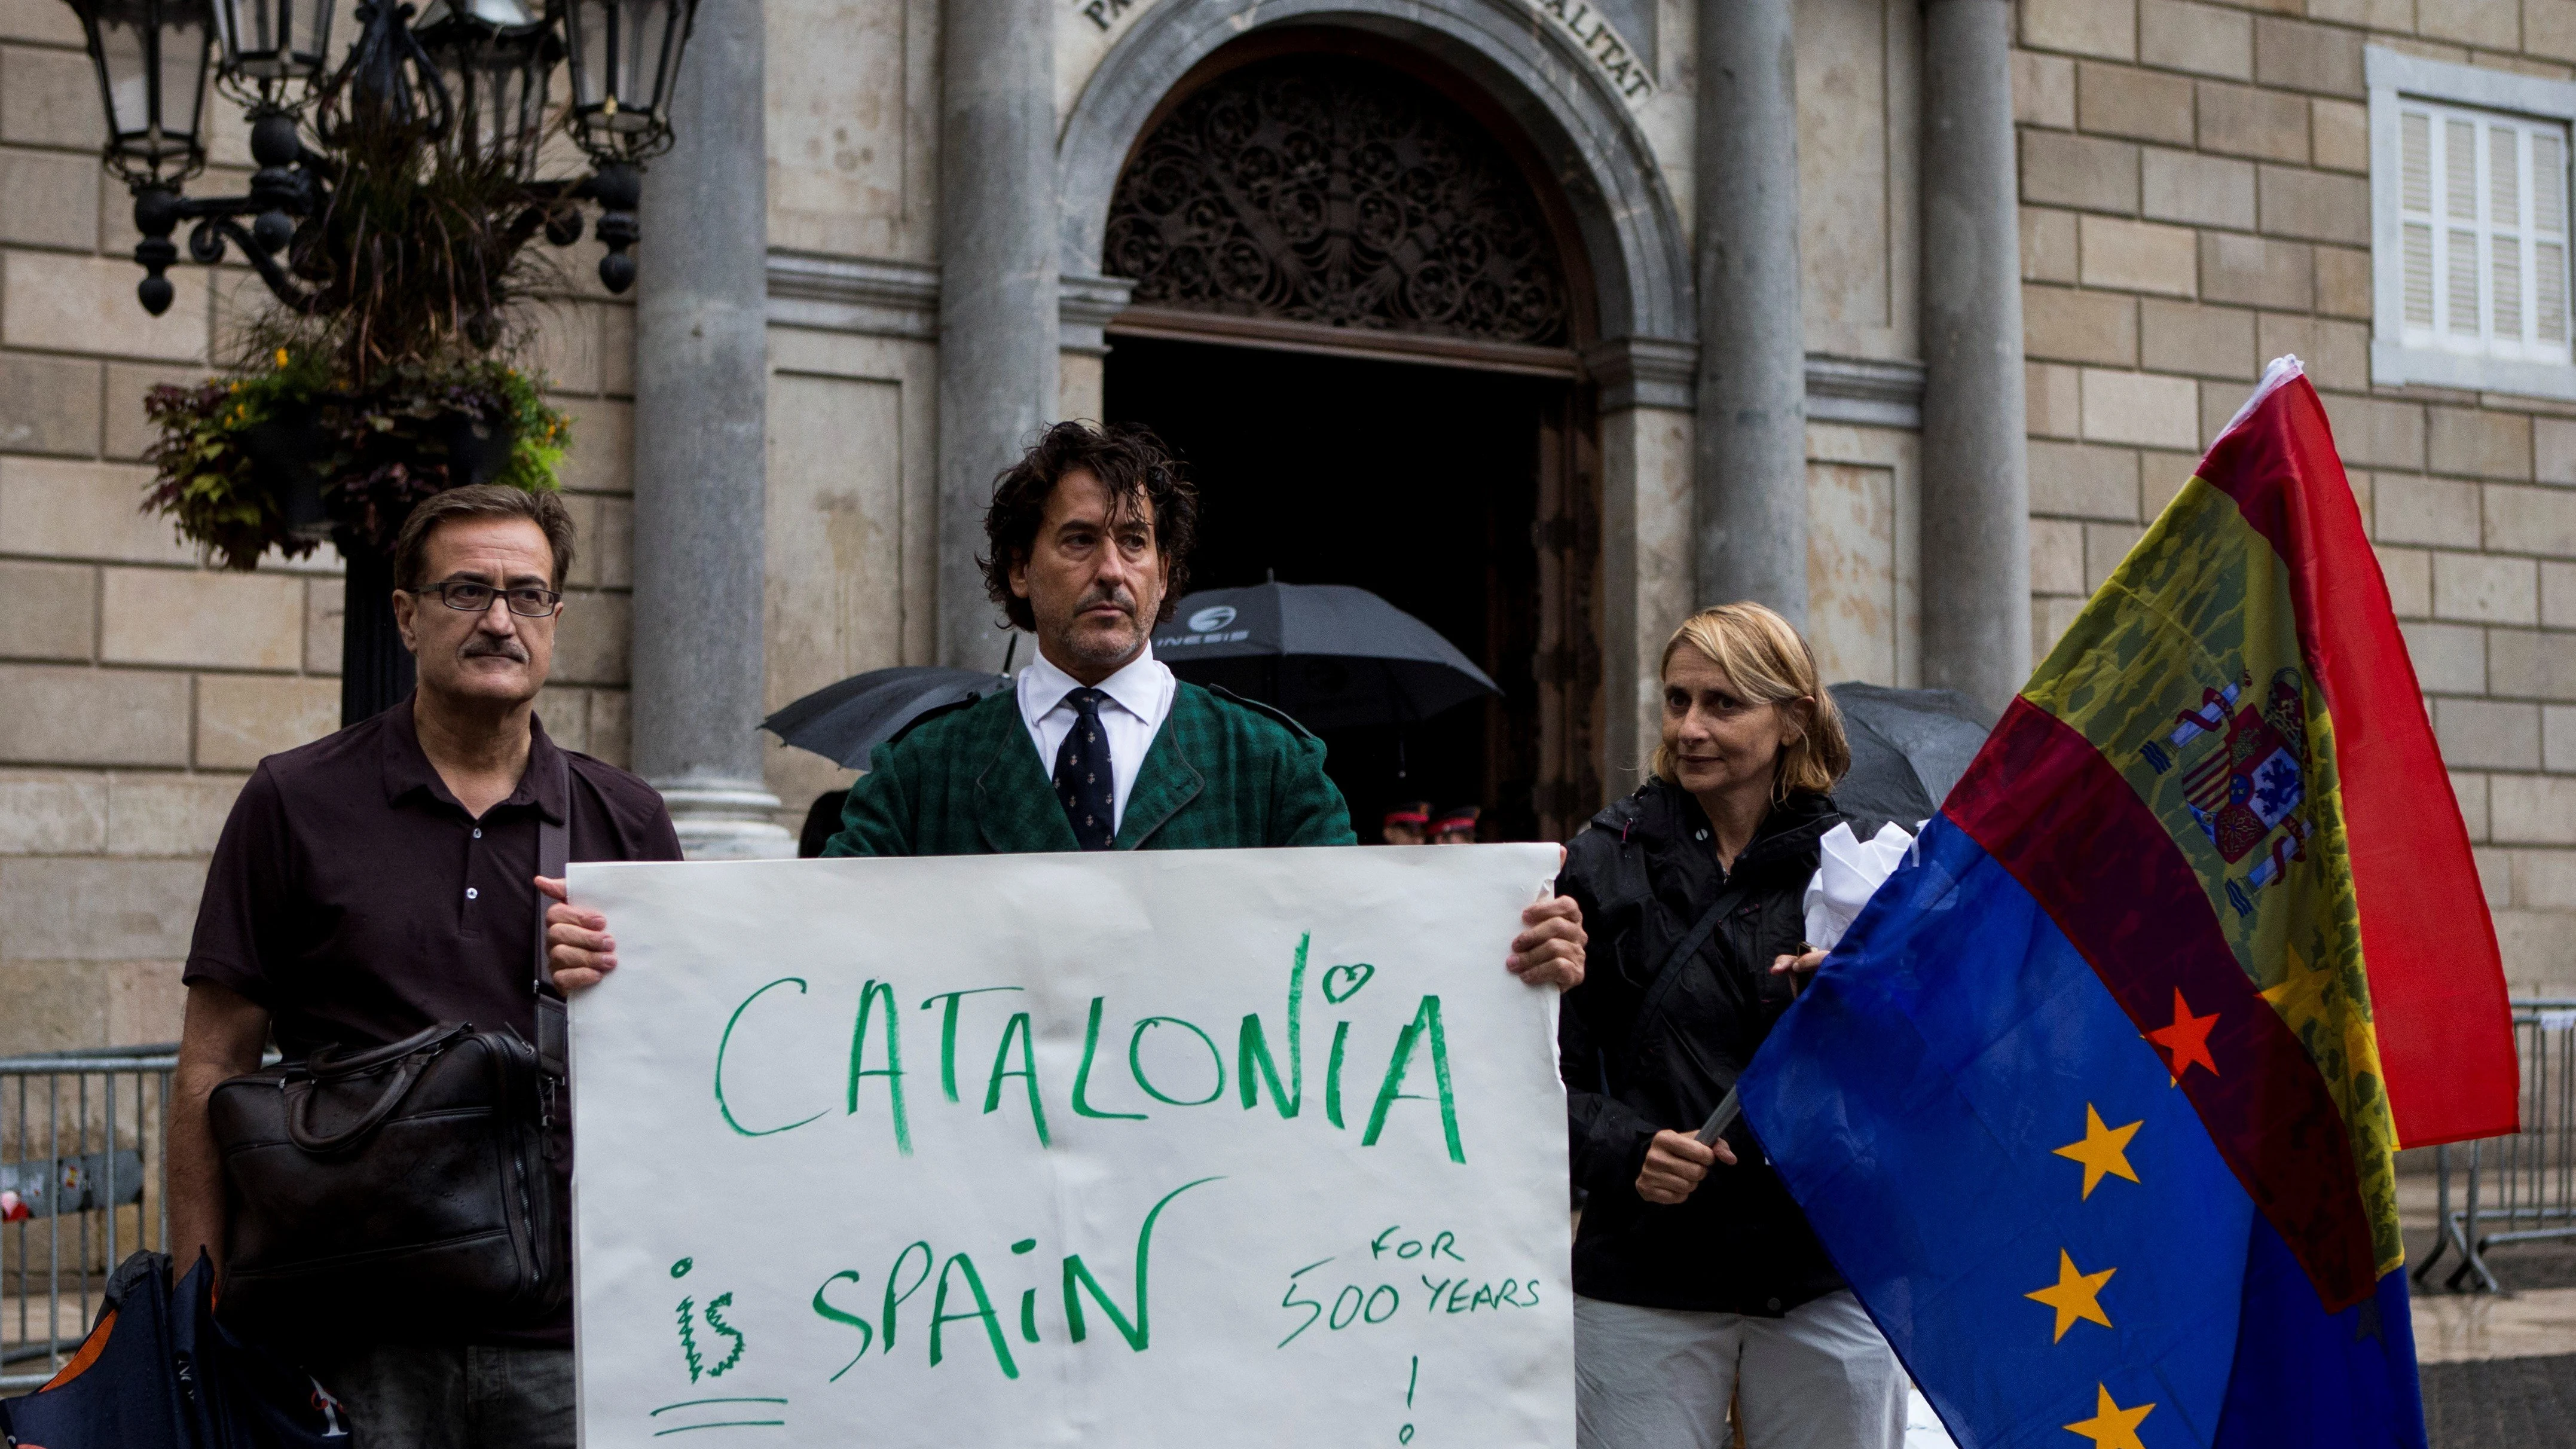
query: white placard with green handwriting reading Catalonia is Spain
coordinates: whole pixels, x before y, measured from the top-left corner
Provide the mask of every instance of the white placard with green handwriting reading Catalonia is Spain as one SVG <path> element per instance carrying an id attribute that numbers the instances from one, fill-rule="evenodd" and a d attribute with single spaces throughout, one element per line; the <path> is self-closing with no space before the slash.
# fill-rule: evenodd
<path id="1" fill-rule="evenodd" d="M 1553 872 L 574 865 L 585 1449 L 1571 1446 Z"/>

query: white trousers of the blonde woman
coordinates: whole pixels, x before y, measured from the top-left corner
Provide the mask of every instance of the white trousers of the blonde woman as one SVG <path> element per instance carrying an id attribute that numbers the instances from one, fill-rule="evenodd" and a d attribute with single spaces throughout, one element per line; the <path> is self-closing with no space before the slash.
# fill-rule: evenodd
<path id="1" fill-rule="evenodd" d="M 1852 1289 L 1785 1318 L 1574 1300 L 1577 1449 L 1734 1449 L 1728 1403 L 1744 1449 L 1901 1449 L 1909 1387 Z"/>

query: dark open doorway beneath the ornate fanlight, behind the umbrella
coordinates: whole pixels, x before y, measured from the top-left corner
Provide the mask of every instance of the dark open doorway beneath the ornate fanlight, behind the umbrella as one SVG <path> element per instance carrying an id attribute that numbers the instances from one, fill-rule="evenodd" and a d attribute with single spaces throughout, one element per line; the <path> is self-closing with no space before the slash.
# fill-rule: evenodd
<path id="1" fill-rule="evenodd" d="M 1479 839 L 1543 839 L 1538 528 L 1571 383 L 1118 337 L 1110 422 L 1154 427 L 1200 492 L 1193 589 L 1355 584 L 1440 631 L 1504 697 L 1324 731 L 1363 842 L 1401 800 L 1481 806 Z"/>

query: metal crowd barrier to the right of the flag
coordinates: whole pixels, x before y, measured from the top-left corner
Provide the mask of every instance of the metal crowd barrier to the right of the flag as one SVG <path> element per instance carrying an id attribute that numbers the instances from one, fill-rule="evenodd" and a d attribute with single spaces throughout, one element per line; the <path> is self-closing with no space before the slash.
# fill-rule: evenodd
<path id="1" fill-rule="evenodd" d="M 2488 1248 L 2576 1238 L 2576 999 L 2514 1001 L 2514 1048 L 2522 1058 L 2522 1130 L 2434 1148 L 2439 1235 L 2416 1264 L 2414 1282 L 2458 1248 L 2460 1266 L 2445 1287 L 2476 1279 L 2483 1292 L 2504 1292 L 2486 1264 Z M 2452 1207 L 2455 1186 L 2460 1207 Z"/>

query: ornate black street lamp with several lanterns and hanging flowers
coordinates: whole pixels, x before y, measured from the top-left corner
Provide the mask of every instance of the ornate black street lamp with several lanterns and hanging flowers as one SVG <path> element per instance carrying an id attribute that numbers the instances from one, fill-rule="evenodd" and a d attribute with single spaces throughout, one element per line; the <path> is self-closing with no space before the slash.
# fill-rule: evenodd
<path id="1" fill-rule="evenodd" d="M 389 602 L 386 543 L 402 517 L 440 486 L 510 468 L 551 479 L 554 463 L 541 458 L 562 458 L 559 414 L 549 422 L 528 381 L 492 358 L 513 301 L 541 275 L 520 268 L 520 252 L 538 234 L 556 247 L 580 242 L 582 203 L 595 203 L 587 229 L 605 247 L 600 281 L 613 293 L 634 283 L 641 167 L 670 147 L 667 100 L 698 0 L 428 0 L 417 23 L 412 0 L 358 0 L 358 33 L 337 62 L 332 13 L 348 0 L 64 3 L 98 67 L 106 165 L 134 193 L 144 309 L 170 309 L 173 234 L 193 221 L 191 260 L 214 265 L 240 247 L 278 304 L 309 324 L 270 337 L 330 337 L 325 378 L 294 383 L 291 396 L 242 394 L 268 396 L 263 412 L 224 401 L 224 383 L 165 389 L 173 396 L 152 404 L 167 420 L 165 438 L 204 422 L 240 448 L 222 456 L 247 456 L 252 468 L 247 479 L 240 468 L 188 474 L 198 466 L 191 458 L 214 453 L 183 448 L 162 463 L 155 507 L 180 515 L 188 538 L 237 569 L 327 533 L 348 561 L 340 715 L 366 718 L 412 682 Z M 567 59 L 569 100 L 554 108 Z M 250 118 L 258 170 L 240 196 L 183 196 L 206 165 L 209 69 Z M 585 175 L 536 175 L 556 113 Z M 289 360 L 291 347 L 276 347 L 270 378 L 289 376 Z M 459 401 L 461 383 L 417 383 L 430 360 L 451 368 L 440 376 L 489 378 L 471 368 L 497 368 L 520 391 L 477 383 L 484 391 Z M 402 383 L 407 376 L 415 383 Z M 399 386 L 446 391 L 430 401 L 407 394 L 410 412 L 386 409 L 399 412 L 392 427 L 410 432 L 348 425 Z M 191 494 L 183 476 L 247 502 L 188 515 L 191 497 L 211 494 Z"/>

